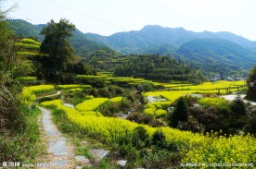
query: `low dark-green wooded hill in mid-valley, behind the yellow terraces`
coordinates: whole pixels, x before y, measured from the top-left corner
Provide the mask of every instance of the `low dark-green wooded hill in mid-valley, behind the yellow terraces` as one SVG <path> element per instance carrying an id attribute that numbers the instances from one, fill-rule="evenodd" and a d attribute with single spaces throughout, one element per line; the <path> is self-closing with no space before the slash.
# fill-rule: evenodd
<path id="1" fill-rule="evenodd" d="M 114 75 L 159 81 L 173 79 L 195 83 L 204 79 L 200 70 L 178 63 L 172 57 L 159 55 L 137 55 L 125 65 L 118 66 Z"/>

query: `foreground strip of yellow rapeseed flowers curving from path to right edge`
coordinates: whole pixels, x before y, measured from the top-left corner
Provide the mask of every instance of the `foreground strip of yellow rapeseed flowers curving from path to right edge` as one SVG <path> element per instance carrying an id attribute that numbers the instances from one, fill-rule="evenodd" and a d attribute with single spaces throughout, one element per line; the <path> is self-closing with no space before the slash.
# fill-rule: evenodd
<path id="1" fill-rule="evenodd" d="M 97 105 L 107 102 L 108 99 L 96 98 L 91 101 Z M 90 101 L 90 100 L 88 100 Z M 90 102 L 91 103 L 91 102 Z M 88 136 L 102 139 L 107 142 L 131 138 L 135 127 L 143 126 L 128 120 L 105 117 L 100 115 L 86 115 L 86 112 L 65 107 L 60 100 L 42 103 L 43 106 L 55 107 L 62 110 L 70 122 L 83 129 Z M 94 114 L 91 112 L 90 114 Z M 182 163 L 255 163 L 256 139 L 248 136 L 216 137 L 214 135 L 194 134 L 189 131 L 180 131 L 171 127 L 148 127 L 149 137 L 160 129 L 167 142 L 176 142 L 183 153 Z"/>

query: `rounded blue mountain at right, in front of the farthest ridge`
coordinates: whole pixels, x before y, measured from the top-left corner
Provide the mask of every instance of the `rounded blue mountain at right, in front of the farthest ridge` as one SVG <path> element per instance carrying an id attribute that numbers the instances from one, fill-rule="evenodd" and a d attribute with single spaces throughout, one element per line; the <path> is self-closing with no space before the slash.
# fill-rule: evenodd
<path id="1" fill-rule="evenodd" d="M 206 72 L 241 71 L 256 64 L 256 52 L 222 39 L 198 39 L 183 44 L 177 51 Z"/>

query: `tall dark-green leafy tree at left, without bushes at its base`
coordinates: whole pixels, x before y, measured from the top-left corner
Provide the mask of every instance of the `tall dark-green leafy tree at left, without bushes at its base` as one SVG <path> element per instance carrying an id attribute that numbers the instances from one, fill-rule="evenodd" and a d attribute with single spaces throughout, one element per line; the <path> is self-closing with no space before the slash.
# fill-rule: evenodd
<path id="1" fill-rule="evenodd" d="M 61 18 L 58 23 L 51 20 L 41 31 L 45 40 L 41 44 L 40 52 L 49 55 L 49 67 L 65 70 L 72 60 L 73 48 L 68 41 L 72 37 L 72 30 L 75 30 L 75 26 L 67 19 Z"/>

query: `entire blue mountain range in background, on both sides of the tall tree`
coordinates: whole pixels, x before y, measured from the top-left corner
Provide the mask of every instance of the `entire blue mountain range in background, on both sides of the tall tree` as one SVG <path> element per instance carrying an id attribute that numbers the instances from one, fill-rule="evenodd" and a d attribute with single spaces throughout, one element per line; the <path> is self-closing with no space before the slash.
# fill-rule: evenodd
<path id="1" fill-rule="evenodd" d="M 16 34 L 42 41 L 40 30 L 45 25 L 32 25 L 20 19 L 8 22 L 9 28 Z M 255 63 L 256 53 L 253 51 L 256 49 L 256 42 L 230 32 L 193 32 L 183 28 L 146 26 L 142 30 L 119 32 L 108 37 L 94 33 L 83 34 L 80 30 L 74 30 L 73 34 L 70 43 L 75 53 L 83 56 L 84 62 L 85 58 L 94 57 L 96 51 L 107 52 L 105 56 L 110 54 L 109 59 L 111 54 L 117 53 L 169 55 L 188 66 L 201 69 L 208 78 L 219 74 L 223 77 L 246 78 L 250 67 Z M 106 60 L 100 57 L 97 61 L 101 59 Z M 113 68 L 109 69 L 113 71 Z"/>

